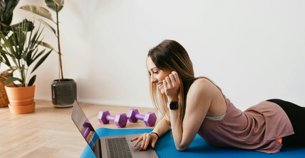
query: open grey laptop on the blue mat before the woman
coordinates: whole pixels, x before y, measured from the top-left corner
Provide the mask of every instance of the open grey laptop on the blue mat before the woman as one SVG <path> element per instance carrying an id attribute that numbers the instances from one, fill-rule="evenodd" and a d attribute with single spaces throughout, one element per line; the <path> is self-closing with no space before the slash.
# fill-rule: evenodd
<path id="1" fill-rule="evenodd" d="M 131 142 L 131 140 L 140 134 L 108 137 L 97 135 L 77 101 L 73 103 L 71 118 L 97 158 L 157 157 L 157 153 L 152 147 L 148 147 L 145 151 L 140 151 L 139 147 L 133 147 L 135 142 Z"/>

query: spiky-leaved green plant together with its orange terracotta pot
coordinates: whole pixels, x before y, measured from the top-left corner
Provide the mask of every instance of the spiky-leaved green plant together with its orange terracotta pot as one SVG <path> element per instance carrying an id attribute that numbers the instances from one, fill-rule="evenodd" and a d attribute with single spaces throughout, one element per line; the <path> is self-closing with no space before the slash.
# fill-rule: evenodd
<path id="1" fill-rule="evenodd" d="M 6 79 L 6 94 L 9 97 L 9 108 L 11 113 L 31 113 L 35 111 L 35 79 L 32 75 L 35 69 L 42 64 L 52 52 L 52 47 L 41 41 L 42 29 L 29 30 L 29 21 L 19 24 L 16 31 L 11 31 L 11 35 L 0 33 L 1 37 L 1 57 L 2 63 L 11 69 L 16 69 L 18 77 Z M 45 49 L 40 50 L 38 45 Z M 46 49 L 50 49 L 46 52 Z M 33 68 L 32 68 L 33 67 Z M 15 82 L 19 82 L 16 84 Z"/>

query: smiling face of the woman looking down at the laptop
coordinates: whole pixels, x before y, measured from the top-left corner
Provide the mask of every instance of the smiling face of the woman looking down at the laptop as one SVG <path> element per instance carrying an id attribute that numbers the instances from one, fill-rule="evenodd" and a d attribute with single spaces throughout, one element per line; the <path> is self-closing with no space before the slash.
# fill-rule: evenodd
<path id="1" fill-rule="evenodd" d="M 164 94 L 163 80 L 171 74 L 171 71 L 157 68 L 150 57 L 148 57 L 146 64 L 148 66 L 148 73 L 150 74 L 150 82 L 157 84 L 161 94 Z"/>

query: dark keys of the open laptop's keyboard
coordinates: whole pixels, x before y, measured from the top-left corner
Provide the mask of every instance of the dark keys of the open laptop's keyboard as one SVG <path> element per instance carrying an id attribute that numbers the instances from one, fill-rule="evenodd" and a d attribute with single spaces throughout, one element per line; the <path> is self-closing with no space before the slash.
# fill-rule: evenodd
<path id="1" fill-rule="evenodd" d="M 108 157 L 133 157 L 126 137 L 106 139 Z"/>

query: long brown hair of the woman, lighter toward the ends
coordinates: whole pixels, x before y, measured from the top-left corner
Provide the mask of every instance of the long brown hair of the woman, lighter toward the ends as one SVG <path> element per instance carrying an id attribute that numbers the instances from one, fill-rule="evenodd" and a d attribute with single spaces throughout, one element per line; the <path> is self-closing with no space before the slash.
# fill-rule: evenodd
<path id="1" fill-rule="evenodd" d="M 181 84 L 178 94 L 178 120 L 180 120 L 179 123 L 181 126 L 186 109 L 187 91 L 189 91 L 189 87 L 196 80 L 194 77 L 193 64 L 189 59 L 187 50 L 174 40 L 164 40 L 162 43 L 149 50 L 148 57 L 151 58 L 159 69 L 175 71 L 179 75 Z M 167 114 L 167 97 L 165 94 L 161 94 L 160 90 L 157 89 L 157 85 L 152 84 L 151 81 L 150 96 L 157 111 L 160 111 L 160 113 L 167 118 L 167 121 L 170 122 L 168 119 L 169 115 Z"/>

